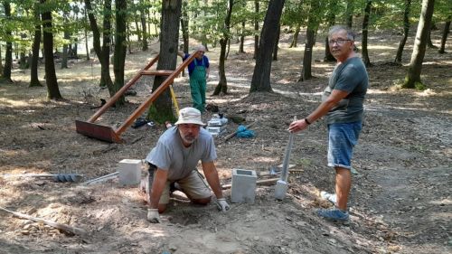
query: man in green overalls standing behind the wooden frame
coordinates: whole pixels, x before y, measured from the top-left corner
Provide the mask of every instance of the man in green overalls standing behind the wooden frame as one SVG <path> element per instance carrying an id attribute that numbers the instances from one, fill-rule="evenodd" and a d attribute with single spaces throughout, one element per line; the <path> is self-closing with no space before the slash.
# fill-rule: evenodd
<path id="1" fill-rule="evenodd" d="M 205 89 L 207 79 L 209 79 L 209 59 L 204 55 L 205 47 L 198 45 L 196 47 L 196 58 L 188 65 L 188 74 L 190 76 L 190 89 L 192 90 L 193 108 L 201 112 L 205 110 Z M 190 54 L 178 52 L 178 55 L 185 61 Z"/>

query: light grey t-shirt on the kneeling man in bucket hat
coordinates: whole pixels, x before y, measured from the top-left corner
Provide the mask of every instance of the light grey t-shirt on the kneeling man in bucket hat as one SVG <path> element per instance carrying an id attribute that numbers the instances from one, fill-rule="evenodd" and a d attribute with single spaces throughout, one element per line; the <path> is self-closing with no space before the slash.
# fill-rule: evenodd
<path id="1" fill-rule="evenodd" d="M 192 146 L 185 147 L 177 127 L 170 127 L 160 136 L 146 161 L 168 171 L 168 180 L 176 181 L 188 176 L 198 162 L 212 162 L 217 158 L 212 135 L 204 128 Z"/>

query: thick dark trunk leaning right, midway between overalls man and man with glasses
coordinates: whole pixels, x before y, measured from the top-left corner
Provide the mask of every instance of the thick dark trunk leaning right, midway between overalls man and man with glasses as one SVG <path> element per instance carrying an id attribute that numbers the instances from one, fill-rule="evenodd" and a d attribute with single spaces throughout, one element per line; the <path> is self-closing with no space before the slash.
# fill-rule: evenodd
<path id="1" fill-rule="evenodd" d="M 272 91 L 270 84 L 271 55 L 278 35 L 278 25 L 284 3 L 285 0 L 270 0 L 268 3 L 267 14 L 260 33 L 259 50 L 250 92 Z"/>

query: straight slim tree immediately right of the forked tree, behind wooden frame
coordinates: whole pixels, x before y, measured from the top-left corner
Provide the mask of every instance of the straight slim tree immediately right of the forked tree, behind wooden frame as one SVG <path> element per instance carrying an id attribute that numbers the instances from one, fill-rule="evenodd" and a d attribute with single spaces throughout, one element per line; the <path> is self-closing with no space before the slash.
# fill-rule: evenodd
<path id="1" fill-rule="evenodd" d="M 115 53 L 113 56 L 113 73 L 115 73 L 114 89 L 115 93 L 124 86 L 124 67 L 127 53 L 127 0 L 115 0 Z M 126 102 L 121 96 L 116 105 L 123 105 Z"/>

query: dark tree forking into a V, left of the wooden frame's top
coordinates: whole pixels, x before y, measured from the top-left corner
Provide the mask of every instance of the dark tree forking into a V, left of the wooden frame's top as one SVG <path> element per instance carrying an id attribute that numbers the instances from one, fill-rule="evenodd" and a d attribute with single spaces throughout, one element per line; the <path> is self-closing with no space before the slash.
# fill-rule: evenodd
<path id="1" fill-rule="evenodd" d="M 110 52 L 110 34 L 111 34 L 111 0 L 104 0 L 103 4 L 103 24 L 102 24 L 102 46 L 100 46 L 100 31 L 96 19 L 95 10 L 90 0 L 85 0 L 85 6 L 88 11 L 89 25 L 92 31 L 92 45 L 94 52 L 100 62 L 100 87 L 107 87 L 110 97 L 116 93 L 113 87 L 109 71 L 109 52 Z"/>

